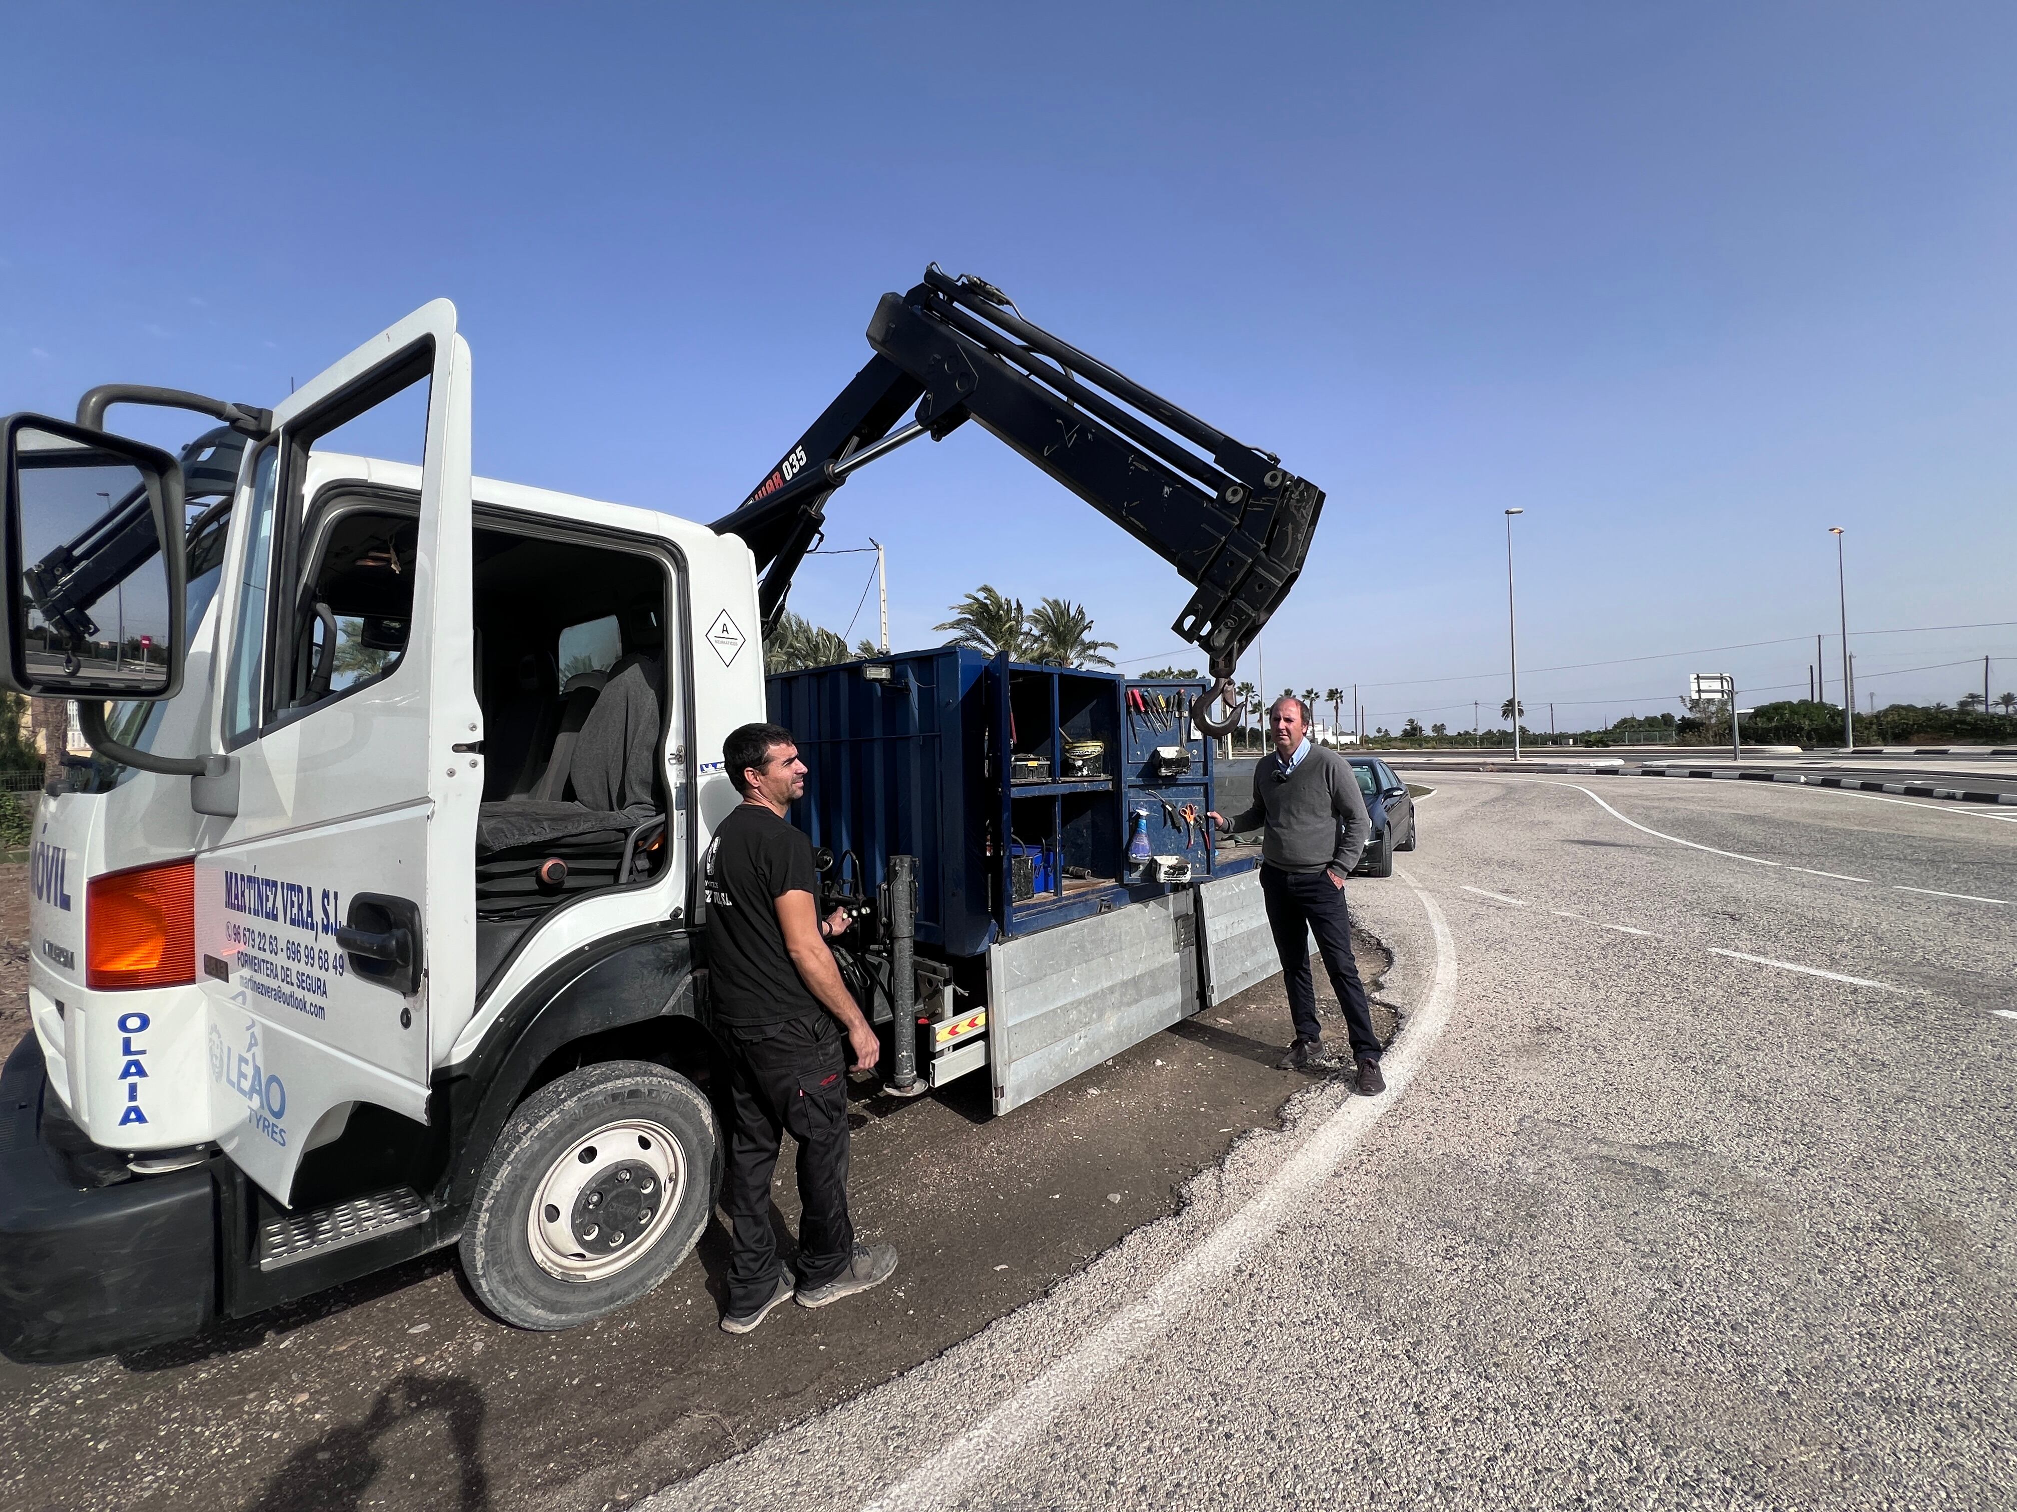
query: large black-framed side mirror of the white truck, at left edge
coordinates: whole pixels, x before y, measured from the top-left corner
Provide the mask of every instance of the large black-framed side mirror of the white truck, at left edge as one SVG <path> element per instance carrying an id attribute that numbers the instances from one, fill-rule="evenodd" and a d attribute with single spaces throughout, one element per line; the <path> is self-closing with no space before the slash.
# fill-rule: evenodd
<path id="1" fill-rule="evenodd" d="M 186 651 L 182 466 L 141 442 L 46 415 L 8 415 L 0 431 L 0 687 L 173 698 Z"/>

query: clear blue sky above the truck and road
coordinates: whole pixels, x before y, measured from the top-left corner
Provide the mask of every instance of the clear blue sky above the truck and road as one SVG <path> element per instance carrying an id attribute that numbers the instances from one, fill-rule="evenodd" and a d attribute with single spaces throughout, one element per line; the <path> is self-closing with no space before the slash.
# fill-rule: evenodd
<path id="1" fill-rule="evenodd" d="M 1507 506 L 1529 724 L 1803 691 L 1829 524 L 1852 631 L 2017 619 L 2007 4 L 48 6 L 8 58 L 8 409 L 270 403 L 446 294 L 480 472 L 706 520 L 936 258 L 1329 492 L 1267 683 L 1374 724 L 1505 698 Z M 835 498 L 871 532 L 898 645 L 982 581 L 1176 645 L 974 427 Z M 2017 627 L 1852 639 L 1880 704 L 2017 687 Z"/>

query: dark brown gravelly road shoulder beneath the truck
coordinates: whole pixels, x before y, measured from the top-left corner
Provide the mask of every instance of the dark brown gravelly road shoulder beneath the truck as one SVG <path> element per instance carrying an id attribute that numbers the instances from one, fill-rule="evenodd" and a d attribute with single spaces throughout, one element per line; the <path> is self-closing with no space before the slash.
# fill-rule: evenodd
<path id="1" fill-rule="evenodd" d="M 0 877 L 0 927 L 20 923 L 22 891 Z M 1357 956 L 1378 980 L 1380 946 L 1361 939 Z M 8 970 L 26 968 L 0 952 L 0 988 Z M 1390 1010 L 1376 1018 L 1392 1028 Z M 0 1508 L 635 1502 L 932 1359 L 1172 1212 L 1192 1173 L 1275 1127 L 1311 1083 L 1277 1068 L 1287 1038 L 1275 978 L 1006 1119 L 986 1119 L 978 1075 L 916 1103 L 857 1095 L 855 1222 L 896 1242 L 902 1268 L 863 1298 L 787 1306 L 744 1339 L 716 1327 L 716 1224 L 651 1298 L 571 1333 L 496 1322 L 440 1254 L 188 1345 L 63 1367 L 0 1361 Z M 787 1256 L 791 1169 L 787 1149 Z"/>

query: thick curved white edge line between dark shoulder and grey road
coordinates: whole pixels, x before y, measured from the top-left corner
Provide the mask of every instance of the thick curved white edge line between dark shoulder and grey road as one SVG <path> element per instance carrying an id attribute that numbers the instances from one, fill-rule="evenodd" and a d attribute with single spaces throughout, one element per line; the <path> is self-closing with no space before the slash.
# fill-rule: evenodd
<path id="1" fill-rule="evenodd" d="M 1059 1413 L 1089 1395 L 1111 1371 L 1152 1349 L 1158 1337 L 1222 1282 L 1249 1250 L 1273 1238 L 1283 1222 L 1303 1212 L 1311 1191 L 1329 1179 L 1366 1133 L 1400 1103 L 1450 1022 L 1456 1002 L 1456 939 L 1436 899 L 1406 871 L 1396 869 L 1394 875 L 1414 889 L 1428 913 L 1428 927 L 1436 937 L 1436 974 L 1428 986 L 1428 1000 L 1410 1020 L 1406 1044 L 1384 1060 L 1386 1095 L 1347 1097 L 1269 1177 L 1253 1202 L 1206 1234 L 1204 1242 L 1172 1266 L 1146 1296 L 1099 1325 L 1071 1353 L 1047 1365 L 1035 1381 L 922 1466 L 885 1486 L 863 1504 L 863 1512 L 944 1506 L 972 1482 L 992 1482 L 1015 1454 L 1049 1431 Z"/>

